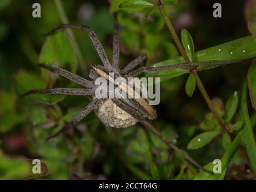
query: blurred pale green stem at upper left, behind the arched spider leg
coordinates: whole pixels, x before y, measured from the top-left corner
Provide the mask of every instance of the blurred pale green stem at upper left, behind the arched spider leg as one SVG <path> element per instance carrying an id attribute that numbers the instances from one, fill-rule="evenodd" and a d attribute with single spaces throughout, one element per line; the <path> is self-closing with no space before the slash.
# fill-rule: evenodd
<path id="1" fill-rule="evenodd" d="M 55 5 L 58 10 L 58 14 L 60 15 L 61 22 L 63 24 L 69 23 L 69 19 L 67 18 L 67 14 L 63 8 L 61 0 L 54 0 Z M 71 29 L 65 29 L 67 32 L 68 37 L 70 38 L 70 41 L 73 44 L 73 48 L 75 49 L 76 57 L 78 58 L 78 61 L 80 63 L 80 67 L 83 69 L 83 71 L 88 71 L 88 67 L 86 65 L 86 62 L 84 61 L 83 55 L 80 51 L 80 47 L 76 43 L 75 35 L 73 34 Z"/>

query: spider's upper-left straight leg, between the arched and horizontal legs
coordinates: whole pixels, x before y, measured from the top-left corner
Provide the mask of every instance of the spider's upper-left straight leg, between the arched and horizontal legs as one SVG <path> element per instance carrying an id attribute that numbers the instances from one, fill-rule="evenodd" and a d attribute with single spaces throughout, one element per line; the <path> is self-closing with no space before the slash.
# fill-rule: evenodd
<path id="1" fill-rule="evenodd" d="M 83 77 L 70 73 L 69 71 L 63 70 L 62 68 L 55 68 L 45 64 L 39 64 L 38 66 L 45 68 L 46 70 L 49 70 L 52 73 L 56 73 L 63 77 L 66 77 L 67 79 L 70 79 L 73 82 L 78 83 L 79 85 L 83 85 L 88 88 L 92 88 L 93 86 L 93 83 L 90 80 L 84 79 Z"/>

